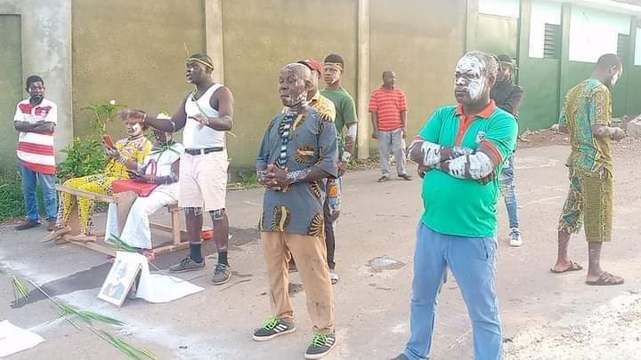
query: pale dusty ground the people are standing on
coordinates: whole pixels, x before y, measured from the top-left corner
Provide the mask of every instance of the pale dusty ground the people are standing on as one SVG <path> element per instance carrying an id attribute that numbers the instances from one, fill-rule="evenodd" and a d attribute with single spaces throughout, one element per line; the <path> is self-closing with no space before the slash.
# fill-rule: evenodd
<path id="1" fill-rule="evenodd" d="M 507 216 L 505 206 L 499 204 L 497 291 L 504 358 L 638 358 L 641 188 L 637 173 L 641 165 L 636 156 L 641 142 L 624 140 L 614 147 L 614 240 L 604 245 L 602 265 L 625 276 L 626 284 L 611 287 L 584 284 L 585 271 L 549 272 L 556 258 L 556 221 L 568 188 L 564 161 L 569 149 L 522 145 L 515 155 L 515 184 L 523 247 L 507 245 Z M 338 343 L 328 359 L 387 359 L 398 355 L 409 337 L 414 231 L 422 207 L 420 182 L 378 184 L 378 176 L 376 170 L 345 176 L 344 209 L 337 229 L 341 279 L 334 287 Z M 207 269 L 183 276 L 203 275 L 191 281 L 205 291 L 166 304 L 127 300 L 122 308 L 115 308 L 96 299 L 110 268 L 104 256 L 72 244 L 41 244 L 43 228 L 22 233 L 0 228 L 0 321 L 8 319 L 45 338 L 36 348 L 11 358 L 126 358 L 92 332 L 77 331 L 56 320 L 51 301 L 37 292 L 31 292 L 27 304 L 12 307 L 12 276 L 31 279 L 56 299 L 79 308 L 118 317 L 125 326 L 101 328 L 137 347 L 150 348 L 160 359 L 302 358 L 312 329 L 296 273 L 290 282 L 297 332 L 264 343 L 251 340 L 252 330 L 270 316 L 256 232 L 261 197 L 261 189 L 229 193 L 231 282 L 219 287 L 209 283 L 215 263 L 209 259 Z M 164 213 L 156 218 L 167 221 Z M 96 223 L 102 226 L 102 215 Z M 158 234 L 154 238 L 166 240 Z M 206 243 L 206 251 L 213 252 L 213 244 Z M 167 268 L 184 253 L 161 256 L 155 263 Z M 582 234 L 572 238 L 570 254 L 572 260 L 587 265 Z M 471 326 L 453 276 L 442 288 L 433 344 L 432 359 L 472 358 Z"/>

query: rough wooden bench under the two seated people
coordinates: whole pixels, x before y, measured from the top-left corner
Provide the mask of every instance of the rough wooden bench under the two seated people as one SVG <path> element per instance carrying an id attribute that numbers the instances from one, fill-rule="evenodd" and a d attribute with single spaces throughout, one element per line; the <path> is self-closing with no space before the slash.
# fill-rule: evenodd
<path id="1" fill-rule="evenodd" d="M 78 190 L 77 188 L 69 188 L 64 185 L 56 185 L 56 190 L 63 193 L 70 194 L 74 197 L 81 196 L 81 197 L 92 199 L 93 201 L 116 204 L 118 206 L 118 230 L 121 232 L 123 227 L 125 226 L 125 221 L 129 213 L 129 209 L 131 208 L 131 205 L 134 204 L 134 201 L 137 198 L 137 195 L 133 191 L 126 191 L 124 193 L 118 193 L 118 194 L 109 196 L 109 195 L 95 194 L 88 191 Z M 68 224 L 69 227 L 71 228 L 71 232 L 69 233 L 69 235 L 76 236 L 80 232 L 80 222 L 78 217 L 77 201 L 73 201 L 71 206 L 72 206 L 71 215 L 69 216 L 69 224 Z M 172 235 L 172 242 L 171 244 L 168 244 L 168 245 L 162 245 L 162 246 L 152 248 L 151 251 L 157 255 L 161 253 L 182 250 L 189 246 L 189 242 L 182 241 L 182 235 L 186 234 L 186 232 L 181 230 L 181 225 L 180 225 L 181 209 L 178 207 L 177 204 L 170 204 L 170 205 L 166 205 L 165 207 L 167 209 L 167 212 L 171 214 L 171 226 L 168 227 L 166 225 L 150 222 L 150 228 L 156 228 L 158 230 L 170 233 Z M 104 241 L 105 240 L 104 231 L 96 231 L 94 232 L 94 234 L 97 238 L 101 237 L 101 240 L 96 241 L 95 243 L 93 242 L 80 243 L 80 242 L 73 242 L 73 241 L 70 241 L 69 243 L 77 244 L 77 245 L 86 247 L 88 249 L 92 249 L 96 252 L 102 252 L 107 255 L 115 256 L 116 250 Z M 104 243 L 104 244 L 101 244 L 101 243 Z"/>

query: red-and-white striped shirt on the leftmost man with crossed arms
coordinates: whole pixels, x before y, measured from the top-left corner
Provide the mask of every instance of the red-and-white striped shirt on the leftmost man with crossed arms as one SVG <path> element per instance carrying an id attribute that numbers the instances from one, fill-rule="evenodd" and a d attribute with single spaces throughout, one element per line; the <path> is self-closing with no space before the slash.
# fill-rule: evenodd
<path id="1" fill-rule="evenodd" d="M 22 100 L 16 106 L 16 113 L 13 121 L 37 123 L 58 123 L 58 107 L 51 100 L 43 99 L 36 106 L 32 106 L 29 100 Z M 18 148 L 16 155 L 20 163 L 34 172 L 55 174 L 55 149 L 53 148 L 53 132 L 36 133 L 20 132 L 18 135 Z"/>

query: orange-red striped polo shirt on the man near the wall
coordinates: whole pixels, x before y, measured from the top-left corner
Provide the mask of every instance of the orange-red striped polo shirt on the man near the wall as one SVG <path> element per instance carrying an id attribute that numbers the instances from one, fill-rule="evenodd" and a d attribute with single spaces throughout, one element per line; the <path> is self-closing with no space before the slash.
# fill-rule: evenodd
<path id="1" fill-rule="evenodd" d="M 402 128 L 401 111 L 407 111 L 407 100 L 401 89 L 381 86 L 369 98 L 369 112 L 377 113 L 378 130 L 391 132 Z"/>

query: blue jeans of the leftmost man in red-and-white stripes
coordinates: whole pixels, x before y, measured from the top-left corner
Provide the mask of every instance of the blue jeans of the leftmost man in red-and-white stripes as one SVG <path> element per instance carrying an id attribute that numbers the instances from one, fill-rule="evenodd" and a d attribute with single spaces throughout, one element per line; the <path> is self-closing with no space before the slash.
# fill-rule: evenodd
<path id="1" fill-rule="evenodd" d="M 43 203 L 45 203 L 46 219 L 56 220 L 58 216 L 58 194 L 55 189 L 55 174 L 34 172 L 20 164 L 20 175 L 22 177 L 22 195 L 25 199 L 27 219 L 39 219 L 36 188 L 37 185 L 40 185 L 43 193 Z"/>

